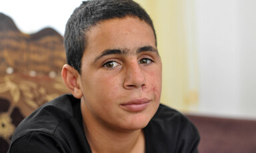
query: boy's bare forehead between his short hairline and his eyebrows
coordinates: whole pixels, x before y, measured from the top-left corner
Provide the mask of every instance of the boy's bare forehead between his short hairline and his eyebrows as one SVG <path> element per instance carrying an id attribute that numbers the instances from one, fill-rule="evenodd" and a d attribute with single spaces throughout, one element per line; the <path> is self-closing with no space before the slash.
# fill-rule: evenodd
<path id="1" fill-rule="evenodd" d="M 87 51 L 94 55 L 137 54 L 146 48 L 156 51 L 155 35 L 151 26 L 136 17 L 108 19 L 97 23 L 87 32 Z M 97 59 L 96 57 L 96 59 Z M 94 57 L 95 58 L 95 57 Z"/>

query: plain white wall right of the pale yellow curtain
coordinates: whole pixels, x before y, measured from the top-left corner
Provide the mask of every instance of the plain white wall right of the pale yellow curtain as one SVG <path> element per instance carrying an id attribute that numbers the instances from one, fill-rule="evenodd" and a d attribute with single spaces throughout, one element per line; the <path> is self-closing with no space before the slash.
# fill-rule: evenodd
<path id="1" fill-rule="evenodd" d="M 199 112 L 256 118 L 256 1 L 195 2 Z"/>

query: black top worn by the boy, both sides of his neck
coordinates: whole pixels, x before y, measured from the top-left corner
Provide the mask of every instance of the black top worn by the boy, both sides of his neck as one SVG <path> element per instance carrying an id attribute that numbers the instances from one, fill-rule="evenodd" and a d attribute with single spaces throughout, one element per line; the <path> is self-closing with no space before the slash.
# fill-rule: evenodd
<path id="1" fill-rule="evenodd" d="M 199 133 L 180 112 L 160 104 L 143 129 L 146 153 L 197 152 Z M 80 100 L 71 94 L 47 102 L 19 124 L 9 153 L 89 153 Z"/>

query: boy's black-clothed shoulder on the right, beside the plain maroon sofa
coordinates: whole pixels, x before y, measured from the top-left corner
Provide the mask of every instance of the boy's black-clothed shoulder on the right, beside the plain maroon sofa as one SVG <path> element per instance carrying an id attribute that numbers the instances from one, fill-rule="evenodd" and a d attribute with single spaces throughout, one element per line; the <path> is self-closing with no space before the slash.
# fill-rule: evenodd
<path id="1" fill-rule="evenodd" d="M 199 132 L 181 112 L 160 104 L 145 128 L 151 150 L 161 152 L 197 152 Z"/>

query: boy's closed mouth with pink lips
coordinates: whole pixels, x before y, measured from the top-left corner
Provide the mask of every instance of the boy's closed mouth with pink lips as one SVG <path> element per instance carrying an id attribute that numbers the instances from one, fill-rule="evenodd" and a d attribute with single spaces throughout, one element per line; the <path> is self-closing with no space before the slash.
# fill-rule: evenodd
<path id="1" fill-rule="evenodd" d="M 148 98 L 137 98 L 128 102 L 123 102 L 120 106 L 129 112 L 140 112 L 149 106 L 151 100 Z"/>

